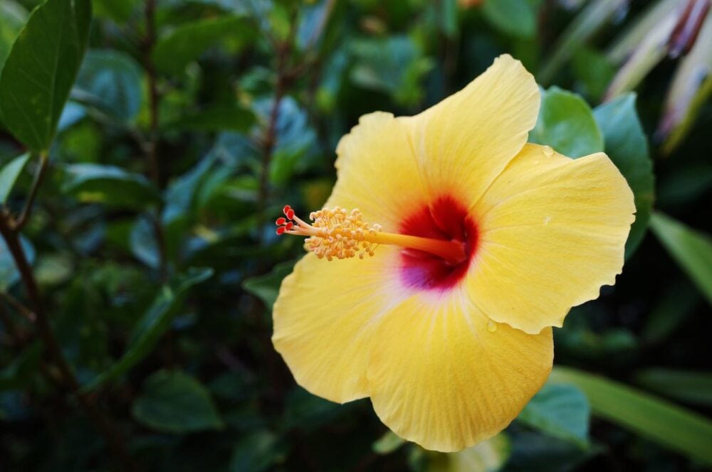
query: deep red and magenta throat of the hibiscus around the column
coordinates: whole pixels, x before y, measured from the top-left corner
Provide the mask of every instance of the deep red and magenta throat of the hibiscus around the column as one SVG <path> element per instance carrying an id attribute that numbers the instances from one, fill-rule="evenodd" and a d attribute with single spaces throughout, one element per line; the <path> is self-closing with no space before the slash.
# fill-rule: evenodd
<path id="1" fill-rule="evenodd" d="M 407 215 L 399 232 L 404 235 L 434 240 L 457 241 L 464 245 L 466 259 L 459 264 L 447 262 L 429 252 L 404 249 L 399 267 L 401 279 L 414 289 L 451 289 L 463 279 L 476 252 L 478 232 L 476 222 L 464 205 L 451 195 L 437 198 Z"/>

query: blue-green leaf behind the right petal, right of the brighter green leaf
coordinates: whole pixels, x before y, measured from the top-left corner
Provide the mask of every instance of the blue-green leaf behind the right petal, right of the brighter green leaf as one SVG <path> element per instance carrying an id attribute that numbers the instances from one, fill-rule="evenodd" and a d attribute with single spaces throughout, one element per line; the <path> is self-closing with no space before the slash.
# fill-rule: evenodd
<path id="1" fill-rule="evenodd" d="M 635 222 L 626 242 L 626 257 L 633 254 L 648 228 L 655 186 L 648 141 L 638 119 L 635 100 L 635 94 L 629 93 L 593 111 L 603 132 L 605 151 L 628 181 L 635 198 Z"/>

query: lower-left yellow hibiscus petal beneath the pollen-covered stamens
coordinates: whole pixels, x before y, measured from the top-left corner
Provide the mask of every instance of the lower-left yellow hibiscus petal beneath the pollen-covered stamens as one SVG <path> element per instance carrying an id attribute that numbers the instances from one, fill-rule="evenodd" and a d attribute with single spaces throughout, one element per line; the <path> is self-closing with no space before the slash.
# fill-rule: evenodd
<path id="1" fill-rule="evenodd" d="M 402 301 L 394 247 L 327 262 L 310 253 L 282 282 L 272 342 L 299 385 L 333 402 L 367 397 L 368 352 L 379 318 Z"/>

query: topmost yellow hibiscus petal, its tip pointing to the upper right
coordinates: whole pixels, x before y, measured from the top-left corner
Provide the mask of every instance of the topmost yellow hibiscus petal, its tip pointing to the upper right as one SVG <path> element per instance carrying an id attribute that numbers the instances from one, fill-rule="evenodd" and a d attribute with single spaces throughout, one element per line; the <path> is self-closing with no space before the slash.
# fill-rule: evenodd
<path id="1" fill-rule="evenodd" d="M 501 55 L 463 90 L 405 119 L 430 197 L 475 203 L 522 149 L 539 102 L 533 75 Z"/>

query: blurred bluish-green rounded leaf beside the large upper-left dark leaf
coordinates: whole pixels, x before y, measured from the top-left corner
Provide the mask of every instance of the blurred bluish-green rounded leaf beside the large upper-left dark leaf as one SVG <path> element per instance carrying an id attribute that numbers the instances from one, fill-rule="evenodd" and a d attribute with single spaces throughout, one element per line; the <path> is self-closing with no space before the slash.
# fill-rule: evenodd
<path id="1" fill-rule="evenodd" d="M 118 122 L 130 122 L 141 109 L 141 66 L 117 50 L 87 52 L 72 100 L 95 107 Z"/>

